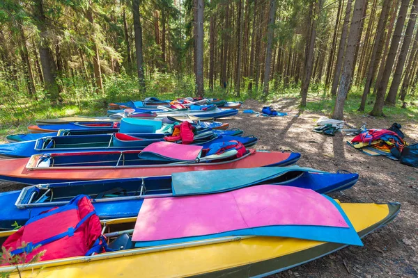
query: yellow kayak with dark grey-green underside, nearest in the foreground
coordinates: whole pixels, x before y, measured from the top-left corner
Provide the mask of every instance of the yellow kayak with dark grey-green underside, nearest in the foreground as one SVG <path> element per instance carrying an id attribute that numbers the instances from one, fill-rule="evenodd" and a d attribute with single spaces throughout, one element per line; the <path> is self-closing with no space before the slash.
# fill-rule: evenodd
<path id="1" fill-rule="evenodd" d="M 396 217 L 401 205 L 341 204 L 360 237 Z M 133 227 L 135 218 L 111 220 L 115 229 Z M 116 228 L 117 227 L 117 228 Z M 8 236 L 13 232 L 1 232 Z M 33 263 L 22 277 L 263 277 L 307 263 L 347 245 L 296 238 L 229 236 Z M 15 267 L 2 267 L 10 272 Z M 39 273 L 38 273 L 39 271 Z M 36 274 L 36 275 L 35 275 Z M 10 277 L 18 277 L 13 272 Z"/>

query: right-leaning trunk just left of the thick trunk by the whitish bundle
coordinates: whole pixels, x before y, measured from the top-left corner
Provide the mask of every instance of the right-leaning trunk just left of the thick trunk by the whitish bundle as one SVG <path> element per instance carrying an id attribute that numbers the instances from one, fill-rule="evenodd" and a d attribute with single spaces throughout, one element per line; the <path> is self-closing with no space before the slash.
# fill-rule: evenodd
<path id="1" fill-rule="evenodd" d="M 307 106 L 307 96 L 308 96 L 308 89 L 309 83 L 311 82 L 311 74 L 312 74 L 312 63 L 314 63 L 314 47 L 315 47 L 315 40 L 316 40 L 316 25 L 318 22 L 318 17 L 320 15 L 320 9 L 322 8 L 323 0 L 318 0 L 315 3 L 315 13 L 313 13 L 313 18 L 311 19 L 311 33 L 309 35 L 309 43 L 307 47 L 307 56 L 305 58 L 304 64 L 304 74 L 302 77 L 302 87 L 300 90 L 300 95 L 302 96 L 302 101 L 300 105 L 302 107 Z M 312 6 L 311 6 L 312 8 Z"/>

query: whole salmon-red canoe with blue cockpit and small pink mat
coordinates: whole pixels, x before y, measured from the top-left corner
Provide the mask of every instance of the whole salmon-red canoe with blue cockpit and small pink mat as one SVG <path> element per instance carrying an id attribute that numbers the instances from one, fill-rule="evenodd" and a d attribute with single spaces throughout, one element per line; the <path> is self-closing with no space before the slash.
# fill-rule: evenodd
<path id="1" fill-rule="evenodd" d="M 161 143 L 159 142 L 158 146 Z M 166 145 L 169 143 L 165 143 Z M 164 144 L 163 144 L 164 145 Z M 155 146 L 155 143 L 150 146 Z M 148 151 L 150 146 L 144 151 Z M 199 146 L 173 144 L 176 155 L 182 155 L 183 160 L 174 160 L 171 149 L 161 161 L 155 157 L 146 159 L 139 155 L 161 154 L 160 149 L 152 152 L 85 152 L 72 154 L 34 155 L 31 158 L 16 158 L 0 161 L 0 179 L 19 183 L 56 183 L 64 181 L 88 181 L 94 179 L 122 179 L 130 177 L 167 176 L 176 172 L 201 170 L 224 170 L 252 167 L 288 166 L 296 163 L 300 154 L 291 152 L 258 152 L 247 149 L 247 154 L 234 158 L 235 154 L 225 158 L 212 156 L 198 158 L 202 152 Z M 147 149 L 148 148 L 148 149 Z M 229 152 L 225 152 L 227 154 Z M 184 157 L 186 156 L 187 157 Z M 229 154 L 228 154 L 229 155 Z M 221 158 L 221 159 L 220 159 Z M 158 158 L 157 158 L 158 159 Z M 163 164 L 164 163 L 164 164 Z"/>

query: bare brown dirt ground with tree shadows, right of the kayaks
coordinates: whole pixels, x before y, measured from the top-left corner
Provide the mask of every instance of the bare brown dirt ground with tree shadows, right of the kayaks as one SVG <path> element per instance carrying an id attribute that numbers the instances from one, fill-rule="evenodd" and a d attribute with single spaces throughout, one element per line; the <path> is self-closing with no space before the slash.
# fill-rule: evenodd
<path id="1" fill-rule="evenodd" d="M 300 152 L 298 165 L 335 172 L 348 170 L 360 175 L 353 188 L 334 193 L 341 202 L 400 202 L 401 213 L 394 222 L 363 239 L 364 247 L 343 250 L 270 277 L 418 277 L 418 169 L 382 156 L 367 156 L 346 144 L 352 137 L 336 133 L 324 136 L 311 129 L 323 113 L 300 111 L 300 99 L 282 98 L 271 104 L 285 117 L 256 117 L 239 113 L 224 120 L 231 127 L 258 137 L 257 149 Z M 261 111 L 263 104 L 245 101 L 245 109 Z M 402 124 L 407 142 L 418 142 L 418 117 L 402 115 L 375 118 L 349 113 L 346 122 L 360 127 L 388 128 Z M 1 139 L 0 139 L 1 140 Z M 0 183 L 0 191 L 17 190 L 16 183 Z"/>

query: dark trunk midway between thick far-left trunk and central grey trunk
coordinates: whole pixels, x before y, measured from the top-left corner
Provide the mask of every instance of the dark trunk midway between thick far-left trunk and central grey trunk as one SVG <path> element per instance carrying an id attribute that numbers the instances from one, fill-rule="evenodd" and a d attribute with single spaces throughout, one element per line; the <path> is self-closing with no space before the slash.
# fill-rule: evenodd
<path id="1" fill-rule="evenodd" d="M 134 37 L 135 37 L 135 56 L 137 58 L 137 74 L 139 81 L 139 92 L 144 94 L 145 75 L 144 75 L 144 56 L 142 54 L 142 26 L 141 18 L 139 17 L 140 0 L 132 0 L 132 15 L 134 16 Z"/>

